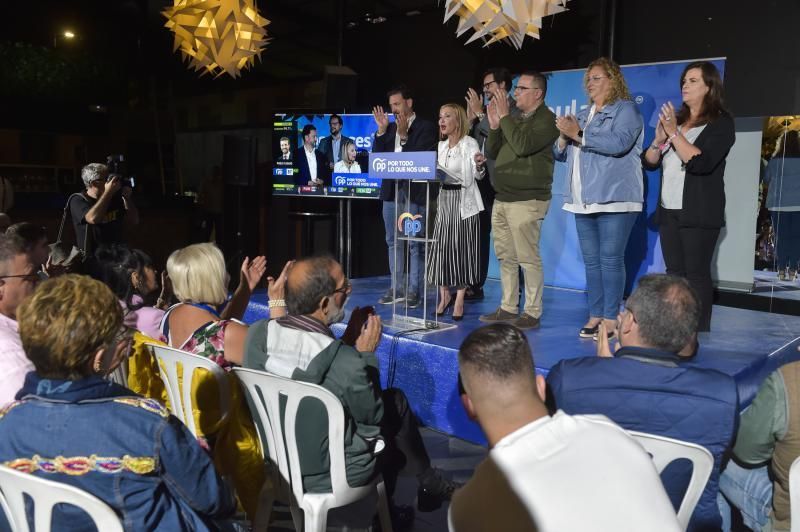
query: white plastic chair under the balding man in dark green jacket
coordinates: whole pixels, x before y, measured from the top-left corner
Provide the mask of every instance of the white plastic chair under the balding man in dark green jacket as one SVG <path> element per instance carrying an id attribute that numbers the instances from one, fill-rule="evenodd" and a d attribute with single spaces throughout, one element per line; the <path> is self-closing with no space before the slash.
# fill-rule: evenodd
<path id="1" fill-rule="evenodd" d="M 292 513 L 296 512 L 297 507 L 303 510 L 304 530 L 306 532 L 324 532 L 329 510 L 364 499 L 377 490 L 381 527 L 385 532 L 391 532 L 389 501 L 383 477 L 378 475 L 372 483 L 366 486 L 351 487 L 347 483 L 344 460 L 344 409 L 339 398 L 322 386 L 315 384 L 297 382 L 263 371 L 244 368 L 235 368 L 233 371 L 244 384 L 264 430 L 267 432 L 263 436 L 266 437 L 270 460 L 278 466 L 283 482 L 288 482 L 291 487 L 294 496 L 290 504 Z M 280 421 L 281 396 L 286 398 L 283 423 Z M 331 464 L 330 493 L 306 493 L 303 490 L 295 426 L 300 401 L 306 397 L 320 401 L 327 410 L 328 455 Z M 295 520 L 296 522 L 297 520 Z"/>

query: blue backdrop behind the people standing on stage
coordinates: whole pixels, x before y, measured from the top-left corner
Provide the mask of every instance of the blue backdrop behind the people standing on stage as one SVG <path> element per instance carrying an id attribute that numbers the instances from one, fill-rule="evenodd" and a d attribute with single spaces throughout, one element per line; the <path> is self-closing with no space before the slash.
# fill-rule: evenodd
<path id="1" fill-rule="evenodd" d="M 680 75 L 690 61 L 629 65 L 622 67 L 628 89 L 642 114 L 645 125 L 644 146 L 653 140 L 658 123 L 661 104 L 671 101 L 675 107 L 681 103 Z M 724 74 L 725 60 L 711 60 Z M 575 114 L 588 105 L 583 88 L 584 70 L 552 72 L 548 77 L 547 106 L 558 116 Z M 628 273 L 628 291 L 633 282 L 648 272 L 663 272 L 664 259 L 658 245 L 658 229 L 653 223 L 653 214 L 658 202 L 660 171 L 645 172 L 645 205 L 642 214 L 631 232 L 625 256 Z M 553 173 L 553 200 L 542 226 L 539 244 L 544 267 L 544 282 L 550 286 L 564 288 L 586 288 L 578 236 L 575 232 L 575 216 L 562 210 L 566 188 L 566 165 L 556 162 Z M 497 257 L 492 245 L 489 276 L 500 277 Z"/>

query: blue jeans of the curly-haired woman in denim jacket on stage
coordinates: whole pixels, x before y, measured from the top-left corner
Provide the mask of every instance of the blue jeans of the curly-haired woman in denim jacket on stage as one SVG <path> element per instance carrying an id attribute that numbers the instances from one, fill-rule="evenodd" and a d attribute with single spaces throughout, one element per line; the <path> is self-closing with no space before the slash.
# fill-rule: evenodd
<path id="1" fill-rule="evenodd" d="M 625 291 L 625 247 L 638 212 L 576 214 L 575 228 L 586 266 L 589 316 L 617 319 Z"/>

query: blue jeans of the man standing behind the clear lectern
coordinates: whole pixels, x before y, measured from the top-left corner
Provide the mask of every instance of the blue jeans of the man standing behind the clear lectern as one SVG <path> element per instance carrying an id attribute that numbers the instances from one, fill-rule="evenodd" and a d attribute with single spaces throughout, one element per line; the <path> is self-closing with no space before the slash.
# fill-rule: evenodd
<path id="1" fill-rule="evenodd" d="M 397 201 L 400 213 L 402 214 L 404 212 L 409 212 L 414 215 L 422 214 L 424 216 L 424 209 L 413 201 L 409 203 L 408 211 L 406 211 L 406 201 L 408 199 L 407 194 L 408 191 L 400 187 Z M 422 261 L 424 260 L 422 255 L 422 244 L 420 242 L 408 243 L 409 253 L 408 257 L 406 257 L 405 246 L 403 246 L 403 242 L 397 242 L 397 262 L 395 262 L 394 231 L 398 216 L 399 215 L 395 212 L 394 201 L 384 201 L 383 227 L 386 231 L 386 247 L 389 248 L 389 271 L 392 274 L 392 279 L 394 279 L 397 283 L 396 286 L 398 287 L 398 293 L 408 295 L 419 294 L 419 287 L 422 284 L 422 271 L 424 269 L 422 265 Z M 415 236 L 424 237 L 426 234 L 427 220 L 419 218 L 419 221 L 422 222 L 422 229 Z M 398 231 L 398 235 L 402 236 L 402 231 Z M 408 265 L 408 270 L 411 272 L 411 275 L 407 280 L 404 278 L 406 261 L 410 263 Z M 406 285 L 406 282 L 408 285 Z"/>

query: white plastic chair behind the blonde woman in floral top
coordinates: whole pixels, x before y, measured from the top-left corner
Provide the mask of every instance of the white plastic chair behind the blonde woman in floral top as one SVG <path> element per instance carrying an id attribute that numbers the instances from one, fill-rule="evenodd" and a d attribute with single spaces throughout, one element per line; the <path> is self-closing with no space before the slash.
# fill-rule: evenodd
<path id="1" fill-rule="evenodd" d="M 181 351 L 180 349 L 173 349 L 163 345 L 147 344 L 153 350 L 153 354 L 158 360 L 159 376 L 164 382 L 164 388 L 167 390 L 169 403 L 172 407 L 172 413 L 180 419 L 184 425 L 189 428 L 195 437 L 197 434 L 197 427 L 194 422 L 194 415 L 192 414 L 192 376 L 195 370 L 200 368 L 210 371 L 217 382 L 219 389 L 219 405 L 220 405 L 220 419 L 219 425 L 222 425 L 225 419 L 230 414 L 230 385 L 228 382 L 228 375 L 219 364 L 199 355 L 193 355 Z M 181 379 L 178 378 L 178 364 L 181 365 L 182 371 Z M 182 389 L 180 382 L 183 383 Z"/>

